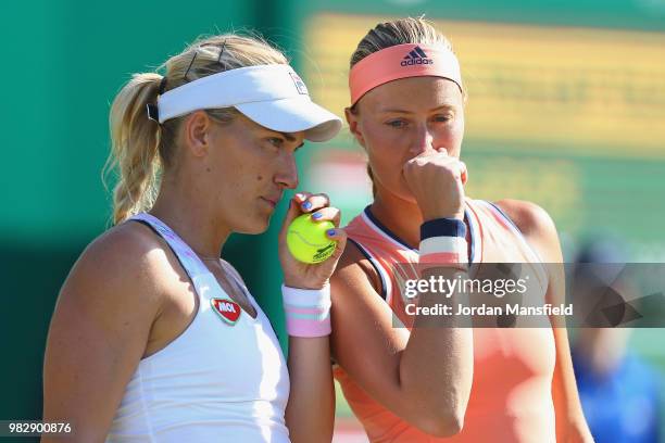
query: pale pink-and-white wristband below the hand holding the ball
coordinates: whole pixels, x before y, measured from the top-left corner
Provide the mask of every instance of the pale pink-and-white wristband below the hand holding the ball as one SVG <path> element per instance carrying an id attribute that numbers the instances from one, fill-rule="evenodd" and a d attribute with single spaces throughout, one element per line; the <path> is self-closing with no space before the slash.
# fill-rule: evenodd
<path id="1" fill-rule="evenodd" d="M 330 334 L 330 286 L 297 289 L 281 286 L 287 332 L 291 337 L 313 338 Z"/>

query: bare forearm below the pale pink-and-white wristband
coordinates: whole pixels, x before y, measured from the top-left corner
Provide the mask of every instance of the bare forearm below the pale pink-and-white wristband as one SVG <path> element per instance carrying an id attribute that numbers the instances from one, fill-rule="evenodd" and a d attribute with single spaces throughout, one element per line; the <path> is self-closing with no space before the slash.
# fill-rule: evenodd
<path id="1" fill-rule="evenodd" d="M 335 390 L 328 337 L 289 338 L 291 390 L 286 422 L 293 443 L 332 439 Z"/>

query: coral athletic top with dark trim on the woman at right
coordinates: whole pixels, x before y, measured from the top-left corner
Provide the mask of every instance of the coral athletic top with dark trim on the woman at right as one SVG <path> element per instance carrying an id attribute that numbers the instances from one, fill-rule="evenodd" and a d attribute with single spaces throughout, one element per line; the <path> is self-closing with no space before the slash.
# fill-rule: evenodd
<path id="1" fill-rule="evenodd" d="M 472 271 L 480 263 L 525 263 L 544 299 L 547 274 L 517 227 L 491 203 L 470 199 L 465 203 Z M 381 296 L 409 328 L 413 317 L 405 315 L 404 300 L 396 288 L 398 278 L 417 278 L 417 274 L 396 276 L 390 269 L 393 263 L 418 263 L 418 251 L 384 227 L 368 207 L 344 230 L 380 276 Z M 336 366 L 334 374 L 372 442 L 543 443 L 555 441 L 551 393 L 555 358 L 551 328 L 475 328 L 474 378 L 464 428 L 448 439 L 426 434 L 389 412 L 341 367 Z"/>

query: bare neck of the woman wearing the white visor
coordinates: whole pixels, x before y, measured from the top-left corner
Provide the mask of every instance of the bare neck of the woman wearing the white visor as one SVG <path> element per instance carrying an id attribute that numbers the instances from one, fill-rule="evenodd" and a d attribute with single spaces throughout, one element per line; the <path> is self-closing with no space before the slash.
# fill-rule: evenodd
<path id="1" fill-rule="evenodd" d="M 176 186 L 164 177 L 150 213 L 168 225 L 202 258 L 218 257 L 230 235 L 202 201 L 204 190 Z"/>

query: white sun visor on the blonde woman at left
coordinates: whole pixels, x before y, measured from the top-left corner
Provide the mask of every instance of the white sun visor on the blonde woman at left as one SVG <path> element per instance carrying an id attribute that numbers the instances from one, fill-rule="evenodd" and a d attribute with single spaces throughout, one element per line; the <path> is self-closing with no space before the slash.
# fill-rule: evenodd
<path id="1" fill-rule="evenodd" d="M 198 110 L 230 106 L 272 130 L 304 130 L 305 138 L 312 141 L 329 140 L 341 128 L 341 119 L 312 102 L 305 84 L 286 64 L 225 71 L 158 98 L 160 123 Z"/>

